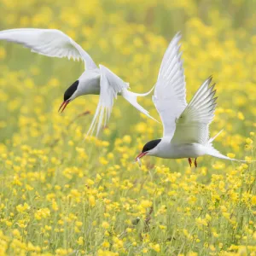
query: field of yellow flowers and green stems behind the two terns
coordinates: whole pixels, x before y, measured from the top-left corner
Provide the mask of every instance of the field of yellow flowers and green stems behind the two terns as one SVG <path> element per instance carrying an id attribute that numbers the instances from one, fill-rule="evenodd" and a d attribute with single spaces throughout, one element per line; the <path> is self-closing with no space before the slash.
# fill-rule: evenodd
<path id="1" fill-rule="evenodd" d="M 0 0 L 0 29 L 58 28 L 137 92 L 177 31 L 188 101 L 213 75 L 216 147 L 255 160 L 255 2 Z M 256 255 L 256 164 L 133 160 L 162 127 L 123 99 L 84 141 L 98 96 L 57 113 L 84 65 L 0 42 L 0 255 Z M 151 97 L 140 103 L 159 119 Z M 90 111 L 88 114 L 87 112 Z M 128 113 L 128 114 L 127 114 Z"/>

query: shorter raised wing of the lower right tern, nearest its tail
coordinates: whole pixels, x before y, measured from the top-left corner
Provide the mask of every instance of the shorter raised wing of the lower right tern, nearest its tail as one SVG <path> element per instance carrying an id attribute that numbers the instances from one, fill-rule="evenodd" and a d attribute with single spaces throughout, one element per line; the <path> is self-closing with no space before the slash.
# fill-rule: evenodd
<path id="1" fill-rule="evenodd" d="M 176 131 L 172 143 L 201 143 L 209 141 L 209 125 L 216 108 L 216 90 L 212 78 L 207 79 L 196 91 L 191 102 L 176 121 Z M 214 139 L 214 138 L 213 138 Z"/>

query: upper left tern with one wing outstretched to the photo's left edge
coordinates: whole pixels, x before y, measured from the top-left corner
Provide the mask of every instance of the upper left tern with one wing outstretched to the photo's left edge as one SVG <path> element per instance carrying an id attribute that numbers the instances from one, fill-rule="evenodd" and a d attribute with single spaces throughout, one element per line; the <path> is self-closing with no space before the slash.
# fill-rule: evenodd
<path id="1" fill-rule="evenodd" d="M 99 103 L 88 135 L 93 134 L 96 126 L 96 135 L 98 135 L 102 125 L 107 124 L 113 108 L 113 99 L 118 95 L 123 96 L 131 105 L 152 118 L 148 111 L 137 103 L 138 96 L 147 96 L 151 90 L 144 94 L 128 90 L 128 83 L 125 83 L 107 67 L 103 65 L 97 67 L 90 55 L 64 32 L 56 29 L 18 28 L 0 32 L 0 40 L 22 44 L 40 55 L 84 61 L 84 73 L 65 91 L 64 101 L 59 111 L 63 112 L 67 104 L 78 96 L 99 95 Z"/>

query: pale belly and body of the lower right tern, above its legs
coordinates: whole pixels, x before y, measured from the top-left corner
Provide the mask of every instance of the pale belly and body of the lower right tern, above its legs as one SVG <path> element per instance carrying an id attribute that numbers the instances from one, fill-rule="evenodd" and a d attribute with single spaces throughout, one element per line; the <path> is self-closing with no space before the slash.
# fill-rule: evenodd
<path id="1" fill-rule="evenodd" d="M 181 158 L 197 158 L 205 153 L 204 146 L 199 143 L 172 145 L 169 144 L 168 148 L 160 150 L 156 157 L 165 159 L 181 159 Z"/>

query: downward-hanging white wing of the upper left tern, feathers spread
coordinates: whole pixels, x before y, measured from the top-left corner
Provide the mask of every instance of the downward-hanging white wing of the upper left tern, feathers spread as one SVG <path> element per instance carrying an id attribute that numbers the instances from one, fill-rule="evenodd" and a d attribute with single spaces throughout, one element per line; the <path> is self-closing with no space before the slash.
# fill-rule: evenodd
<path id="1" fill-rule="evenodd" d="M 108 122 L 113 108 L 113 99 L 116 98 L 118 93 L 121 93 L 123 89 L 129 87 L 128 83 L 125 83 L 107 67 L 102 65 L 99 67 L 101 73 L 100 99 L 90 129 L 87 133 L 87 135 L 92 135 L 97 124 L 96 136 L 98 135 L 102 124 L 105 126 Z"/>

